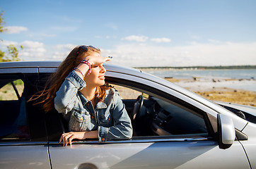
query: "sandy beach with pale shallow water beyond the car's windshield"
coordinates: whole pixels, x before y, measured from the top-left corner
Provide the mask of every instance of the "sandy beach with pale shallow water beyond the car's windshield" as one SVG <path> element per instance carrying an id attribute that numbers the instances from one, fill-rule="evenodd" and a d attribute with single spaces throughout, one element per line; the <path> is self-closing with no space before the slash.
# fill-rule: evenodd
<path id="1" fill-rule="evenodd" d="M 197 78 L 194 80 L 165 78 L 165 80 L 178 84 L 209 100 L 256 107 L 256 80 L 198 80 Z M 245 85 L 248 86 L 248 89 Z M 253 89 L 254 87 L 255 89 Z"/>

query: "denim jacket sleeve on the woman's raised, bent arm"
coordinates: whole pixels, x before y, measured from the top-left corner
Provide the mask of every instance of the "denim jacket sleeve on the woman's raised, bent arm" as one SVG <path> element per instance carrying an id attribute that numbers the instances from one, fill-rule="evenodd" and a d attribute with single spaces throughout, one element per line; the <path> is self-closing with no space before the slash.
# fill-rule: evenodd
<path id="1" fill-rule="evenodd" d="M 58 92 L 54 98 L 54 107 L 59 113 L 68 113 L 74 108 L 74 105 L 78 101 L 76 94 L 78 90 L 83 89 L 86 86 L 81 77 L 79 77 L 76 72 L 73 70 L 65 78 L 61 87 L 59 87 Z"/>

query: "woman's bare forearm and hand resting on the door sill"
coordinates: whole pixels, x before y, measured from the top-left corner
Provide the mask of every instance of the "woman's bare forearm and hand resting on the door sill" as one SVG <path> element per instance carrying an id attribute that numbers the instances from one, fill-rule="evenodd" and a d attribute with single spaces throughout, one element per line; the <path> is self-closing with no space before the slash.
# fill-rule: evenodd
<path id="1" fill-rule="evenodd" d="M 73 139 L 96 139 L 98 138 L 98 130 L 89 132 L 66 132 L 62 134 L 59 139 L 59 143 L 63 142 L 63 146 L 72 144 Z"/>

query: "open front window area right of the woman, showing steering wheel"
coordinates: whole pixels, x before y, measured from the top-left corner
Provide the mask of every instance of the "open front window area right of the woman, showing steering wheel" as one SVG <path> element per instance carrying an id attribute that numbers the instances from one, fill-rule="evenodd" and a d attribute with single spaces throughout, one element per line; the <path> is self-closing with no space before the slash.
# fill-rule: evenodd
<path id="1" fill-rule="evenodd" d="M 207 134 L 204 115 L 157 94 L 111 84 L 117 89 L 132 120 L 134 137 Z M 133 87 L 136 88 L 136 87 Z M 138 103 L 139 99 L 142 103 Z M 139 105 L 138 105 L 139 104 Z M 141 105 L 140 105 L 141 104 Z M 139 106 L 139 110 L 138 110 Z"/>

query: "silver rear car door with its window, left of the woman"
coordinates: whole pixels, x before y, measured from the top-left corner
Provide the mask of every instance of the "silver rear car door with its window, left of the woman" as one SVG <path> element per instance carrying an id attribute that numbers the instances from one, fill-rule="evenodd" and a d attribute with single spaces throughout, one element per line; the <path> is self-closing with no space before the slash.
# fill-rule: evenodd
<path id="1" fill-rule="evenodd" d="M 27 102 L 37 73 L 28 72 L 0 70 L 0 168 L 50 168 L 43 115 Z"/>

